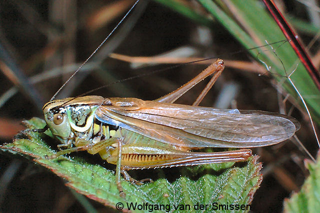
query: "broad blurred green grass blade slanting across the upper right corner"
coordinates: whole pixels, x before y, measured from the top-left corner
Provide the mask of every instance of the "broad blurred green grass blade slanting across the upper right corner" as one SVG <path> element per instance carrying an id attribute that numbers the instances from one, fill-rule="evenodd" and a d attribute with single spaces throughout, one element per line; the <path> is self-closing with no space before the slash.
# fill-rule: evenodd
<path id="1" fill-rule="evenodd" d="M 266 44 L 265 40 L 268 43 L 272 43 L 285 39 L 281 30 L 269 15 L 263 3 L 259 0 L 198 1 L 215 20 L 219 21 L 245 48 L 264 45 Z M 174 7 L 171 8 L 175 9 Z M 212 30 L 216 30 L 216 27 L 212 28 Z M 320 107 L 318 97 L 320 97 L 320 91 L 316 88 L 311 77 L 298 60 L 288 42 L 281 46 L 279 46 L 279 44 L 273 45 L 273 48 L 278 57 L 275 56 L 268 47 L 250 50 L 249 52 L 258 62 L 260 62 L 260 59 L 270 66 L 271 72 L 278 73 L 280 76 L 273 75 L 275 79 L 282 84 L 288 93 L 301 103 L 288 82 L 284 81 L 284 83 L 282 83 L 282 76 L 291 73 L 296 65 L 299 64 L 295 73 L 291 76 L 291 79 L 310 107 L 314 120 L 319 123 Z M 279 59 L 283 62 L 287 74 L 285 74 Z"/>

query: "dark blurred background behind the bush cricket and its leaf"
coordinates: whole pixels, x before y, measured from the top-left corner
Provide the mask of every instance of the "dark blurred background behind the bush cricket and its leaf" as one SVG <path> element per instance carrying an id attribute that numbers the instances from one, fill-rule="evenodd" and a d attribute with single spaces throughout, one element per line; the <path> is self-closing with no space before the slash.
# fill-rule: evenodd
<path id="1" fill-rule="evenodd" d="M 42 118 L 42 106 L 63 82 L 71 75 L 65 70 L 74 71 L 99 45 L 104 37 L 121 19 L 133 1 L 1 1 L 0 2 L 0 42 L 5 52 L 13 59 L 20 70 L 16 75 L 31 77 L 54 68 L 62 74 L 50 79 L 41 79 L 29 87 L 29 91 L 18 92 L 1 103 L 0 140 L 9 142 L 18 130 L 23 119 Z M 288 6 L 290 5 L 290 6 Z M 306 19 L 306 13 L 296 8 L 296 1 L 283 4 L 286 12 Z M 194 6 L 203 10 L 196 2 Z M 103 17 L 105 12 L 109 17 Z M 100 19 L 99 19 L 100 18 Z M 119 79 L 141 73 L 170 67 L 172 65 L 146 65 L 132 68 L 130 63 L 108 58 L 115 52 L 130 56 L 154 56 L 172 49 L 187 46 L 195 49 L 190 57 L 208 57 L 222 55 L 222 59 L 250 62 L 251 56 L 242 52 L 230 55 L 242 49 L 240 44 L 217 22 L 210 30 L 181 16 L 175 11 L 154 1 L 141 1 L 126 19 L 129 23 L 119 26 L 101 51 L 89 61 L 90 72 L 81 72 L 68 84 L 58 97 L 76 96 L 90 89 Z M 97 23 L 98 27 L 95 26 Z M 270 29 L 271 30 L 271 29 Z M 202 41 L 201 36 L 205 39 Z M 307 43 L 311 37 L 301 33 Z M 288 45 L 288 44 L 285 44 Z M 312 50 L 312 49 L 311 49 Z M 170 54 L 168 57 L 177 57 Z M 73 68 L 61 68 L 65 65 Z M 252 63 L 252 66 L 254 64 Z M 114 84 L 95 91 L 104 97 L 137 97 L 153 100 L 174 90 L 190 80 L 204 69 L 205 64 L 187 64 L 163 72 Z M 12 80 L 5 70 L 1 70 L 0 88 L 2 95 L 19 81 Z M 53 70 L 54 71 L 54 70 Z M 21 77 L 21 79 L 26 79 Z M 23 80 L 22 80 L 23 81 Z M 257 72 L 226 66 L 215 86 L 205 97 L 201 106 L 217 106 L 217 97 L 226 89 L 234 100 L 232 106 L 238 109 L 258 109 L 278 112 L 279 103 L 276 90 L 270 84 L 272 78 L 258 76 Z M 191 104 L 203 88 L 204 83 L 192 89 L 179 103 Z M 21 83 L 21 82 L 20 82 Z M 230 88 L 225 85 L 229 85 Z M 29 97 L 30 91 L 36 91 L 36 99 Z M 34 93 L 35 94 L 35 93 Z M 229 96 L 222 96 L 230 108 Z M 291 107 L 287 103 L 287 108 Z M 314 156 L 315 140 L 305 118 L 297 110 L 293 117 L 301 122 L 297 133 L 301 141 L 307 141 L 307 148 Z M 257 190 L 253 202 L 253 212 L 280 212 L 284 198 L 292 191 L 298 191 L 307 172 L 303 167 L 305 154 L 289 140 L 279 145 L 253 150 L 263 162 L 263 181 Z M 3 154 L 3 153 L 2 153 Z M 97 156 L 84 155 L 90 161 L 101 163 Z M 174 170 L 171 169 L 174 172 Z M 0 157 L 0 210 L 1 212 L 82 212 L 81 199 L 63 184 L 63 180 L 49 171 L 40 168 L 17 156 L 3 154 Z M 87 199 L 88 200 L 88 199 Z M 105 207 L 88 200 L 96 210 L 106 211 Z"/>

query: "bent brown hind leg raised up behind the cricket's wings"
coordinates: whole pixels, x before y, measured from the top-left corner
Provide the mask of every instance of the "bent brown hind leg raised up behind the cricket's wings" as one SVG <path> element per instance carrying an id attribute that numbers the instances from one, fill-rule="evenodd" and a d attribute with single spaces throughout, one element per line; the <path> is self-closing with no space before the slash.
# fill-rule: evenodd
<path id="1" fill-rule="evenodd" d="M 198 103 L 203 99 L 207 91 L 212 87 L 215 80 L 218 78 L 218 76 L 221 74 L 222 70 L 224 69 L 223 60 L 217 59 L 215 62 L 213 62 L 210 66 L 208 66 L 206 69 L 204 69 L 201 73 L 199 73 L 197 76 L 195 76 L 193 79 L 191 79 L 189 82 L 181 86 L 180 88 L 174 90 L 173 92 L 170 92 L 169 94 L 156 99 L 157 102 L 162 103 L 173 103 L 176 101 L 179 97 L 181 97 L 185 92 L 187 92 L 189 89 L 191 89 L 193 86 L 195 86 L 197 83 L 202 81 L 204 78 L 208 77 L 212 73 L 214 73 L 212 79 L 207 84 L 207 86 L 203 89 L 197 100 L 193 103 L 193 106 L 197 106 Z"/>

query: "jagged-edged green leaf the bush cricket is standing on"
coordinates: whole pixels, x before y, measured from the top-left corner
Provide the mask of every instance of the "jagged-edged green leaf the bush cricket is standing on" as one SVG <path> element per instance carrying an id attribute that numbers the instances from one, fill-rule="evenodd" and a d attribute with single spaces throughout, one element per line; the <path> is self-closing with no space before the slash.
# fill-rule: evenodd
<path id="1" fill-rule="evenodd" d="M 43 128 L 45 125 L 44 121 L 39 118 L 32 118 L 24 123 L 29 129 Z M 48 135 L 50 136 L 50 133 Z M 182 170 L 184 172 L 181 172 L 184 175 L 171 182 L 166 179 L 157 179 L 153 183 L 135 186 L 122 179 L 121 185 L 126 194 L 125 199 L 122 199 L 119 197 L 113 171 L 101 165 L 89 164 L 79 157 L 60 156 L 53 160 L 43 159 L 44 155 L 52 155 L 56 152 L 49 148 L 46 142 L 48 140 L 50 138 L 43 133 L 28 131 L 24 135 L 17 135 L 13 143 L 0 146 L 0 150 L 32 159 L 36 164 L 46 167 L 65 179 L 66 186 L 112 208 L 115 208 L 119 202 L 124 205 L 124 210 L 128 209 L 127 205 L 131 203 L 133 205 L 148 203 L 153 206 L 144 207 L 142 212 L 148 212 L 150 210 L 148 208 L 151 207 L 155 210 L 156 205 L 163 205 L 160 212 L 167 210 L 163 208 L 170 208 L 171 212 L 183 212 L 175 208 L 190 207 L 190 210 L 194 210 L 194 205 L 198 204 L 198 208 L 200 205 L 208 205 L 205 212 L 211 212 L 214 203 L 249 205 L 262 180 L 259 173 L 261 164 L 256 162 L 257 157 L 254 156 L 247 162 L 234 165 L 227 163 L 184 168 Z M 88 153 L 84 154 L 94 157 Z M 178 168 L 173 169 L 176 172 L 180 171 Z M 165 170 L 168 169 L 157 171 L 161 173 Z M 149 170 L 142 171 L 150 172 Z M 160 206 L 157 207 L 160 208 Z M 141 212 L 133 209 L 131 211 Z M 247 210 L 242 210 L 242 212 L 247 212 Z"/>

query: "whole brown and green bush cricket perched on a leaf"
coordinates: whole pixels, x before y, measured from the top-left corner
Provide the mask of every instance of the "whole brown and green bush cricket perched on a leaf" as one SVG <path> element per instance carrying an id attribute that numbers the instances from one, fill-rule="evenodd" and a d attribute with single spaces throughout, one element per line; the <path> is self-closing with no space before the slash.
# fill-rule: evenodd
<path id="1" fill-rule="evenodd" d="M 46 158 L 84 150 L 98 153 L 116 165 L 116 184 L 120 196 L 125 197 L 120 173 L 126 180 L 139 183 L 126 170 L 246 161 L 251 156 L 250 149 L 190 151 L 268 146 L 290 138 L 298 130 L 298 122 L 285 115 L 173 103 L 214 73 L 212 86 L 223 68 L 223 61 L 217 59 L 179 89 L 154 101 L 83 96 L 46 103 L 46 126 L 61 142 L 58 147 L 66 148 Z"/>

